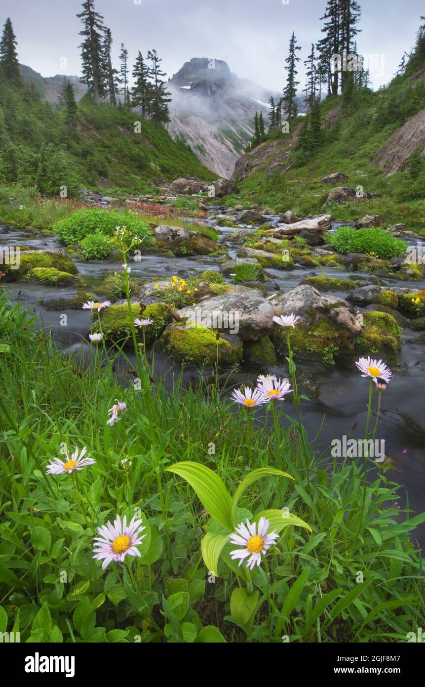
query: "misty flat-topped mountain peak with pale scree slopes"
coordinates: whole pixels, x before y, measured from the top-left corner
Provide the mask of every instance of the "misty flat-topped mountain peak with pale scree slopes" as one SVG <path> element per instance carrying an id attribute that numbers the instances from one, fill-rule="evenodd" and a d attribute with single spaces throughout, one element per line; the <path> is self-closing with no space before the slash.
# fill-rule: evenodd
<path id="1" fill-rule="evenodd" d="M 268 124 L 266 91 L 232 74 L 222 60 L 192 58 L 168 82 L 172 93 L 168 131 L 189 145 L 205 166 L 230 177 L 253 137 L 255 112 Z"/>

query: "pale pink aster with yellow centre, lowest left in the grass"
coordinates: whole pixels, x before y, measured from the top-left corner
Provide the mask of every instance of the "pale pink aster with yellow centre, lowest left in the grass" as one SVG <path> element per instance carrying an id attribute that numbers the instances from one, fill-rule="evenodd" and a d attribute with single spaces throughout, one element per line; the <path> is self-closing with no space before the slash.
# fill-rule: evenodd
<path id="1" fill-rule="evenodd" d="M 141 534 L 146 527 L 142 527 L 142 520 L 136 520 L 135 517 L 130 520 L 127 526 L 127 518 L 124 515 L 123 520 L 119 515 L 115 518 L 113 525 L 110 521 L 106 525 L 97 528 L 99 537 L 94 538 L 93 559 L 102 561 L 102 570 L 106 568 L 111 561 L 122 563 L 125 557 L 141 556 L 137 545 L 141 544 L 143 537 L 146 534 Z"/>

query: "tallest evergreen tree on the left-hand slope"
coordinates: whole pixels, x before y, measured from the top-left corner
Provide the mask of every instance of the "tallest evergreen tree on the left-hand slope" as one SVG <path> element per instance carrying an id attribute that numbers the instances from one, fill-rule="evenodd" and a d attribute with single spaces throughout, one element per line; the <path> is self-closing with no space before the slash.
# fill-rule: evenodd
<path id="1" fill-rule="evenodd" d="M 103 16 L 95 12 L 94 0 L 82 3 L 82 12 L 77 14 L 84 28 L 80 31 L 83 36 L 81 48 L 82 83 L 87 84 L 89 92 L 93 94 L 95 102 L 105 95 L 105 56 L 104 56 L 104 25 Z"/>

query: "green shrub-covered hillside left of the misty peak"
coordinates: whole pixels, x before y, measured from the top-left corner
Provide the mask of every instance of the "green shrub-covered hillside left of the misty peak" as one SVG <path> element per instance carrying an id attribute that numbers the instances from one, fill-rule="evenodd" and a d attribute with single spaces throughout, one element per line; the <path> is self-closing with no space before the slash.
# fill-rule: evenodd
<path id="1" fill-rule="evenodd" d="M 4 182 L 37 185 L 42 192 L 78 194 L 82 185 L 143 190 L 191 174 L 215 175 L 192 151 L 174 142 L 154 122 L 122 107 L 97 105 L 86 95 L 76 119 L 42 102 L 27 85 L 14 87 L 0 75 L 0 172 Z"/>

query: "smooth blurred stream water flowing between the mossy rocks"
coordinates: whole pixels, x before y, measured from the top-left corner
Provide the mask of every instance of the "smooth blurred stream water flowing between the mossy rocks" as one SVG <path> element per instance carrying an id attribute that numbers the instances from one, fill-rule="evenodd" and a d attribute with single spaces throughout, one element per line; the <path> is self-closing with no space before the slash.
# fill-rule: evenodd
<path id="1" fill-rule="evenodd" d="M 219 214 L 223 207 L 211 208 L 213 213 Z M 269 216 L 268 219 L 276 221 L 277 216 Z M 216 227 L 214 218 L 210 218 L 209 225 Z M 345 223 L 346 225 L 347 223 Z M 334 227 L 338 223 L 334 223 Z M 241 227 L 245 229 L 246 227 Z M 216 227 L 220 232 L 220 240 L 224 241 L 231 258 L 236 256 L 237 246 L 229 243 L 230 234 L 234 228 Z M 0 227 L 0 243 L 7 245 L 30 245 L 34 249 L 58 249 L 63 245 L 52 236 L 34 236 L 25 232 L 14 231 L 10 227 Z M 416 243 L 416 237 L 408 237 L 409 243 Z M 82 262 L 75 260 L 82 278 L 95 291 L 102 280 L 110 273 L 119 270 L 121 263 L 114 260 L 93 260 Z M 208 256 L 170 258 L 160 255 L 146 255 L 140 262 L 131 264 L 132 278 L 145 280 L 168 280 L 173 274 L 187 280 L 200 271 L 213 269 L 218 271 L 218 258 Z M 270 279 L 266 282 L 266 289 L 270 293 L 275 291 L 289 291 L 299 285 L 299 282 L 308 275 L 314 274 L 310 268 L 295 267 L 295 269 L 283 271 L 267 269 Z M 317 272 L 316 272 L 317 273 Z M 349 271 L 328 269 L 329 276 L 348 278 Z M 367 274 L 364 275 L 367 279 Z M 228 278 L 230 283 L 231 278 Z M 425 289 L 425 280 L 422 282 L 400 282 L 399 280 L 386 278 L 386 284 L 393 286 L 410 286 L 415 291 Z M 90 347 L 84 339 L 90 330 L 91 313 L 89 311 L 76 311 L 64 309 L 62 311 L 49 311 L 41 307 L 39 300 L 45 297 L 57 296 L 67 293 L 68 289 L 51 286 L 43 286 L 33 283 L 7 284 L 8 292 L 14 302 L 21 302 L 23 306 L 34 308 L 37 315 L 38 326 L 52 329 L 54 336 L 64 350 L 78 350 L 80 354 L 89 359 Z M 346 291 L 330 291 L 328 295 L 336 295 L 341 298 L 347 296 Z M 67 315 L 67 326 L 60 326 L 60 316 Z M 389 480 L 394 480 L 406 486 L 401 493 L 400 506 L 403 508 L 409 504 L 414 513 L 421 513 L 425 508 L 425 421 L 424 421 L 424 382 L 425 382 L 425 350 L 424 344 L 419 343 L 419 334 L 408 328 L 403 330 L 403 346 L 399 356 L 399 367 L 395 370 L 393 381 L 382 394 L 382 411 L 380 425 L 376 438 L 385 439 L 385 453 L 395 460 L 395 466 L 400 472 L 389 473 Z M 128 359 L 135 363 L 134 357 L 127 352 Z M 124 363 L 123 364 L 127 364 Z M 330 446 L 333 438 L 341 438 L 350 435 L 355 438 L 363 438 L 365 420 L 367 415 L 368 382 L 360 376 L 354 363 L 328 365 L 325 363 L 299 363 L 297 368 L 306 372 L 312 379 L 318 392 L 311 403 L 303 405 L 303 421 L 308 430 L 310 439 L 317 435 L 319 427 L 321 432 L 317 440 L 319 450 Z M 155 352 L 155 373 L 163 376 L 165 381 L 172 381 L 172 377 L 180 373 L 180 368 L 170 359 L 165 359 L 163 354 Z M 257 374 L 273 372 L 279 376 L 288 375 L 284 364 L 269 365 L 264 368 L 242 368 L 238 380 L 247 382 L 255 380 Z M 196 370 L 187 368 L 184 373 L 185 381 L 196 377 Z M 290 403 L 285 404 L 285 412 L 293 413 Z M 352 429 L 357 425 L 356 429 Z M 406 455 L 402 455 L 404 450 Z M 414 536 L 418 541 L 425 543 L 425 524 L 415 530 Z"/>

